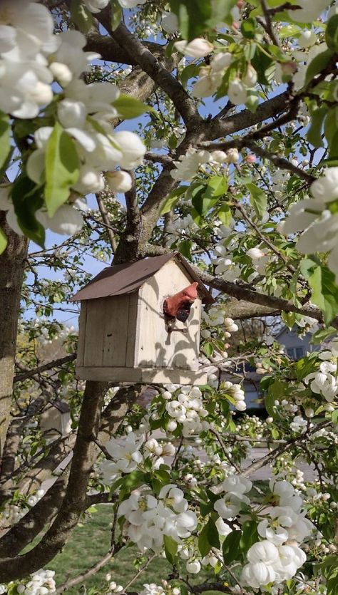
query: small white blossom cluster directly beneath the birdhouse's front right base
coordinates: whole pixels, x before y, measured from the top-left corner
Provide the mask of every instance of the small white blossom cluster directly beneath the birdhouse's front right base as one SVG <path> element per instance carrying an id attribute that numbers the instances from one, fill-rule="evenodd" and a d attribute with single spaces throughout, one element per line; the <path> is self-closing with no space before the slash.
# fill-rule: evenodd
<path id="1" fill-rule="evenodd" d="M 209 424 L 204 418 L 208 411 L 203 406 L 202 393 L 197 386 L 181 386 L 180 393 L 174 395 L 169 390 L 162 393 L 166 400 L 165 410 L 170 416 L 167 428 L 174 432 L 178 423 L 182 424 L 182 434 L 185 438 L 207 430 Z"/>

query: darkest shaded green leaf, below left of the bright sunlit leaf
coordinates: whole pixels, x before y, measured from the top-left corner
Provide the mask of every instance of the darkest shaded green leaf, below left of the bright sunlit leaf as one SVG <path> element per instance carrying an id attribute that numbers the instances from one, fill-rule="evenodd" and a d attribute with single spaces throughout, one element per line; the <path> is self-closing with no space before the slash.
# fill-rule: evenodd
<path id="1" fill-rule="evenodd" d="M 44 247 L 45 230 L 35 217 L 36 211 L 43 206 L 41 187 L 36 186 L 26 174 L 21 173 L 11 189 L 11 200 L 19 226 L 24 234 L 39 246 Z"/>

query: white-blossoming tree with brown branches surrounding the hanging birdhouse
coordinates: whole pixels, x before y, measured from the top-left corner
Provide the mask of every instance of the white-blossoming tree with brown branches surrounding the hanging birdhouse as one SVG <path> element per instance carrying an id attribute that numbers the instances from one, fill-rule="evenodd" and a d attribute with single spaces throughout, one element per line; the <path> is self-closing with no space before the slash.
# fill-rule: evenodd
<path id="1" fill-rule="evenodd" d="M 4 0 L 0 55 L 0 591 L 62 592 L 135 544 L 173 567 L 143 595 L 334 595 L 336 2 Z M 66 238 L 46 247 L 51 232 Z M 86 257 L 174 249 L 215 289 L 208 384 L 152 387 L 145 408 L 148 386 L 78 383 L 76 332 L 53 314 Z M 292 361 L 268 333 L 232 348 L 276 316 L 312 328 L 314 351 Z M 56 337 L 68 353 L 48 362 Z M 237 413 L 248 365 L 264 421 Z M 71 428 L 51 440 L 60 398 Z M 57 584 L 48 564 L 100 502 L 111 548 Z M 113 578 L 96 592 L 128 592 Z"/>

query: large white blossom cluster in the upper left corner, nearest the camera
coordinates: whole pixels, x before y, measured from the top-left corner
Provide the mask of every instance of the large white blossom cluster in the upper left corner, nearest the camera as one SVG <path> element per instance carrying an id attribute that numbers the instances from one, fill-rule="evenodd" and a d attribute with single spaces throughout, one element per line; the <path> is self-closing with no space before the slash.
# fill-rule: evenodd
<path id="1" fill-rule="evenodd" d="M 139 165 L 145 146 L 134 133 L 111 132 L 111 122 L 118 116 L 113 107 L 118 88 L 111 83 L 86 85 L 79 78 L 94 58 L 101 57 L 83 51 L 85 36 L 71 30 L 54 34 L 53 17 L 46 6 L 24 0 L 1 2 L 0 32 L 0 109 L 4 113 L 36 118 L 52 103 L 55 83 L 61 86 L 63 98 L 57 103 L 56 120 L 73 140 L 81 163 L 78 180 L 71 187 L 71 202 L 89 192 L 100 192 L 106 182 L 114 192 L 130 190 L 130 175 L 116 171 L 116 167 L 131 170 Z M 52 126 L 43 126 L 34 133 L 36 150 L 29 155 L 26 173 L 37 185 L 46 179 L 46 150 L 52 132 Z M 8 211 L 9 226 L 22 234 L 11 202 L 11 187 L 1 187 L 0 208 Z M 85 208 L 81 202 L 74 206 Z M 61 234 L 74 234 L 83 224 L 81 212 L 73 205 L 62 205 L 53 217 L 48 217 L 46 209 L 39 209 L 36 219 Z"/>

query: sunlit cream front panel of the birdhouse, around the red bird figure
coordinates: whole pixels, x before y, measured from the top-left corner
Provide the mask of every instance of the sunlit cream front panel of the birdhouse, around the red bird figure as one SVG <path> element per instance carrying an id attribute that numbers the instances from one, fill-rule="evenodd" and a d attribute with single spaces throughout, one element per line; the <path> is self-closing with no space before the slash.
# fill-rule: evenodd
<path id="1" fill-rule="evenodd" d="M 138 337 L 135 362 L 140 368 L 198 368 L 200 338 L 200 299 L 190 310 L 188 321 L 165 328 L 163 302 L 191 283 L 190 276 L 174 261 L 169 261 L 140 289 Z"/>

